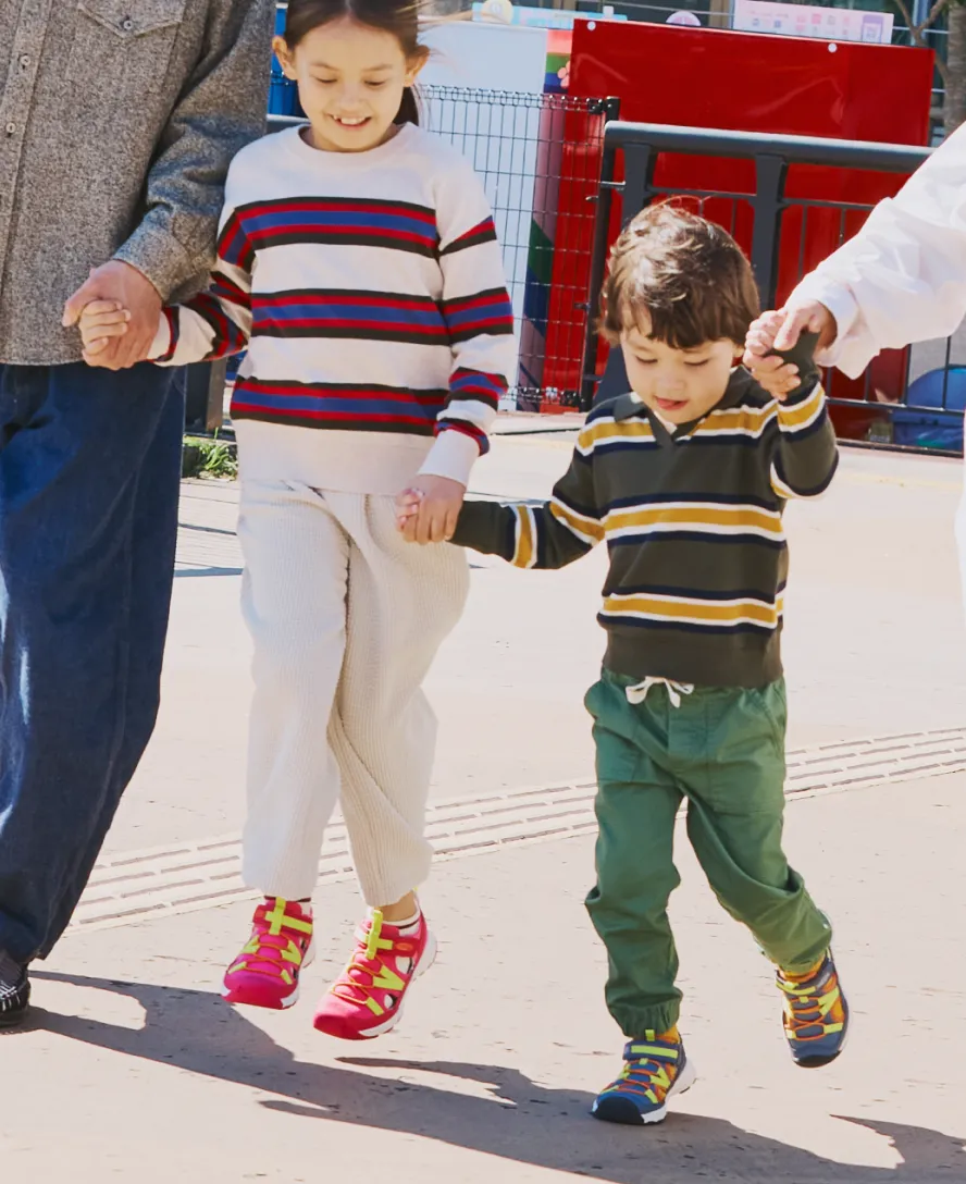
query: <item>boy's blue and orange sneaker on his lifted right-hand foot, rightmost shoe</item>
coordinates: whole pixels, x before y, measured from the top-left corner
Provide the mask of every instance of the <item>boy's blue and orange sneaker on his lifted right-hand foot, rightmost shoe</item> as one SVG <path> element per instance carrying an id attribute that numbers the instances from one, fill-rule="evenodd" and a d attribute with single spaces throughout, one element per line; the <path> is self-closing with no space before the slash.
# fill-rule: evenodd
<path id="1" fill-rule="evenodd" d="M 785 993 L 783 1024 L 792 1060 L 803 1069 L 829 1064 L 845 1048 L 849 1004 L 838 983 L 832 952 L 807 974 L 779 970 L 777 982 Z"/>

